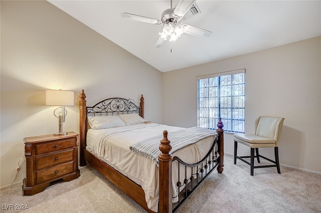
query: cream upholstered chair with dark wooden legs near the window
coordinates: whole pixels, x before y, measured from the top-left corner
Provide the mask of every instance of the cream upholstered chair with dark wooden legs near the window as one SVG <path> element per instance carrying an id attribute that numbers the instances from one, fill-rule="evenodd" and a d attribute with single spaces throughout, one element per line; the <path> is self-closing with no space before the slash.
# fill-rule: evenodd
<path id="1" fill-rule="evenodd" d="M 254 168 L 276 167 L 280 174 L 280 164 L 278 156 L 279 138 L 282 131 L 284 118 L 260 116 L 255 120 L 254 134 L 234 134 L 234 164 L 236 159 L 240 159 L 251 166 L 251 175 L 253 176 Z M 251 147 L 251 156 L 237 156 L 237 143 L 242 143 Z M 275 161 L 259 154 L 258 148 L 274 147 Z M 254 149 L 256 155 L 254 154 Z M 272 162 L 272 165 L 254 166 L 254 158 L 260 163 L 260 158 Z M 250 162 L 243 159 L 250 158 Z"/>

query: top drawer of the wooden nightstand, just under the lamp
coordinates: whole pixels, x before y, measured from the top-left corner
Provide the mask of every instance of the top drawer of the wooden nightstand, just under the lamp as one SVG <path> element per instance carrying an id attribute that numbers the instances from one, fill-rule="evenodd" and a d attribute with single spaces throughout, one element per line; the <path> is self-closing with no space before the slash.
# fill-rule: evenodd
<path id="1" fill-rule="evenodd" d="M 67 140 L 57 140 L 53 143 L 45 143 L 36 145 L 36 154 L 43 154 L 53 151 L 59 151 L 73 147 L 74 140 L 72 138 Z"/>

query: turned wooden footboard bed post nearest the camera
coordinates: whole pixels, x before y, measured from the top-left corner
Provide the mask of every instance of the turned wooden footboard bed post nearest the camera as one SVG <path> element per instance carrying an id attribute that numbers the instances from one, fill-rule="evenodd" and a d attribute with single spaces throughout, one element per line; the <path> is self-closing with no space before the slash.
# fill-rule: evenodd
<path id="1" fill-rule="evenodd" d="M 163 131 L 163 139 L 159 145 L 161 154 L 158 156 L 159 161 L 159 207 L 158 213 L 172 212 L 172 155 L 170 151 L 172 146 L 167 138 L 168 132 Z"/>

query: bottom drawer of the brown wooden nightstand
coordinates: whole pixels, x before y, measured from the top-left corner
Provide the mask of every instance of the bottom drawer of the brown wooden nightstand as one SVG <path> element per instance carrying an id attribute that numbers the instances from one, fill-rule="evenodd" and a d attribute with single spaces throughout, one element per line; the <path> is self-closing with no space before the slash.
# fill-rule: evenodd
<path id="1" fill-rule="evenodd" d="M 50 179 L 59 178 L 64 174 L 73 171 L 73 162 L 66 163 L 60 166 L 55 166 L 49 169 L 44 169 L 41 171 L 36 171 L 37 183 L 41 183 Z"/>

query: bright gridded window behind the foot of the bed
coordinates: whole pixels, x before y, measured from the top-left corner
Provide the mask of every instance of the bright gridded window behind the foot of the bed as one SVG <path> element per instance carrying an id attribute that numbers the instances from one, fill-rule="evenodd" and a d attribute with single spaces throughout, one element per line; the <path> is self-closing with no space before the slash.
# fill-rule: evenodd
<path id="1" fill-rule="evenodd" d="M 245 70 L 198 77 L 198 126 L 245 132 Z"/>

